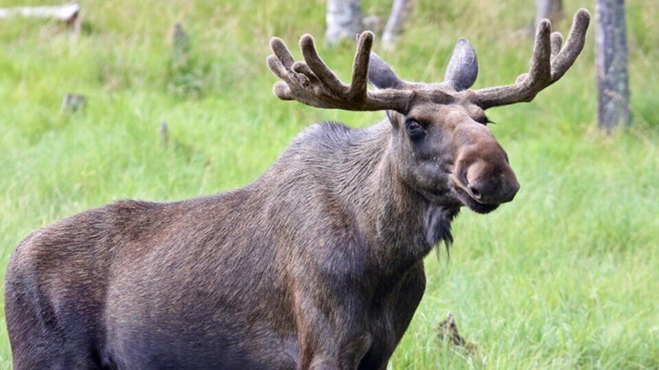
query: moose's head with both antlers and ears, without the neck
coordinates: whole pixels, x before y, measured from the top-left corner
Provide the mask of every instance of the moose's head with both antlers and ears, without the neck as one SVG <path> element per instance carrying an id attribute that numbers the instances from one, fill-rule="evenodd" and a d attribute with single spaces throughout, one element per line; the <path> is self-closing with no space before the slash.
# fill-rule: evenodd
<path id="1" fill-rule="evenodd" d="M 397 77 L 371 51 L 371 32 L 358 36 L 350 85 L 321 60 L 308 34 L 300 40 L 304 62 L 295 62 L 284 42 L 273 38 L 268 66 L 281 78 L 273 88 L 279 99 L 318 108 L 386 110 L 400 180 L 436 204 L 487 213 L 511 201 L 520 185 L 506 152 L 486 127 L 485 110 L 531 101 L 561 78 L 583 48 L 589 20 L 587 10 L 575 14 L 563 47 L 561 34 L 551 33 L 549 21 L 540 22 L 529 72 L 508 86 L 470 89 L 478 59 L 465 38 L 456 43 L 441 83 Z M 376 90 L 367 90 L 367 82 Z"/>

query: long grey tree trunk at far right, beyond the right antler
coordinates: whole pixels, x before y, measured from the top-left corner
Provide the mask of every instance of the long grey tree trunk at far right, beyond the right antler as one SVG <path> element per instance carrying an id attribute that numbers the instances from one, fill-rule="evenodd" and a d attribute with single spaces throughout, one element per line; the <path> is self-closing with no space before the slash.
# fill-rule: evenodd
<path id="1" fill-rule="evenodd" d="M 629 83 L 625 1 L 595 2 L 595 65 L 597 66 L 597 125 L 611 132 L 629 125 Z"/>

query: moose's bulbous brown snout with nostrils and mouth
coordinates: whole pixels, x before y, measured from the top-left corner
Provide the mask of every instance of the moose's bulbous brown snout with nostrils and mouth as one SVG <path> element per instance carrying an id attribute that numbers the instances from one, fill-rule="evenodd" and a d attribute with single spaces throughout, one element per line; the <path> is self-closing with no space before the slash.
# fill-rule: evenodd
<path id="1" fill-rule="evenodd" d="M 502 149 L 501 149 L 502 150 Z M 502 204 L 513 200 L 520 183 L 505 155 L 478 156 L 475 160 L 459 161 L 463 190 L 481 204 Z"/>

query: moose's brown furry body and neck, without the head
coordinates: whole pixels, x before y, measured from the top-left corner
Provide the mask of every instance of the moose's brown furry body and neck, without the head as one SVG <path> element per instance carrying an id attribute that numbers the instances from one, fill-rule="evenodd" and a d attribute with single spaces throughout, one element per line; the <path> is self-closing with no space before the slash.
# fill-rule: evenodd
<path id="1" fill-rule="evenodd" d="M 393 181 L 390 133 L 314 125 L 246 188 L 28 236 L 5 288 L 14 367 L 384 367 L 456 212 Z"/>

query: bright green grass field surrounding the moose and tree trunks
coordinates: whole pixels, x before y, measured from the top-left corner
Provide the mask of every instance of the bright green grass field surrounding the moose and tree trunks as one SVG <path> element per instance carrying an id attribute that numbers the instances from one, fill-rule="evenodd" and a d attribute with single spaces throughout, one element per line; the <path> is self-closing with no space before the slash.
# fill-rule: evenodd
<path id="1" fill-rule="evenodd" d="M 17 5 L 0 0 L 0 7 Z M 21 1 L 48 3 L 49 1 Z M 50 1 L 50 3 L 58 1 Z M 390 1 L 365 1 L 386 16 Z M 504 4 L 505 3 L 505 4 Z M 496 4 L 496 5 L 494 5 Z M 566 35 L 577 8 L 555 25 Z M 116 199 L 172 201 L 244 186 L 310 123 L 363 127 L 382 112 L 318 110 L 270 92 L 268 38 L 321 40 L 323 1 L 82 1 L 77 41 L 56 23 L 0 20 L 0 272 L 27 233 Z M 529 1 L 417 1 L 398 75 L 440 81 L 456 38 L 478 51 L 476 87 L 527 70 Z M 594 26 L 564 78 L 490 125 L 522 188 L 486 216 L 464 210 L 450 261 L 426 260 L 428 289 L 393 369 L 659 367 L 659 3 L 627 1 L 634 125 L 596 129 Z M 172 68 L 172 26 L 191 42 Z M 375 46 L 378 50 L 378 46 Z M 322 51 L 349 78 L 351 45 Z M 66 93 L 87 97 L 60 112 Z M 170 143 L 159 140 L 166 122 Z M 468 352 L 439 341 L 452 312 Z M 10 347 L 0 318 L 0 364 Z"/>

